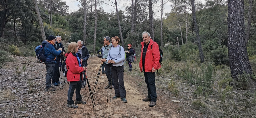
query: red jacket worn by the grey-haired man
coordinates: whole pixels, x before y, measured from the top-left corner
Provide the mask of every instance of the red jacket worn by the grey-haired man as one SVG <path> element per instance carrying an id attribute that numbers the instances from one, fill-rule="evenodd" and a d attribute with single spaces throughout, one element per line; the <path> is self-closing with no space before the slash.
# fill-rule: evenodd
<path id="1" fill-rule="evenodd" d="M 140 71 L 142 72 L 142 52 L 143 52 L 143 47 L 144 47 L 144 41 L 141 42 L 141 59 L 140 59 Z M 152 49 L 151 49 L 152 46 Z M 145 72 L 152 72 L 152 68 L 154 69 L 159 69 L 161 68 L 161 65 L 159 63 L 159 59 L 160 59 L 160 52 L 159 52 L 159 46 L 156 42 L 154 42 L 151 38 L 150 38 L 150 43 L 148 44 L 148 48 L 147 48 L 147 53 L 146 53 L 146 57 L 145 57 Z"/>

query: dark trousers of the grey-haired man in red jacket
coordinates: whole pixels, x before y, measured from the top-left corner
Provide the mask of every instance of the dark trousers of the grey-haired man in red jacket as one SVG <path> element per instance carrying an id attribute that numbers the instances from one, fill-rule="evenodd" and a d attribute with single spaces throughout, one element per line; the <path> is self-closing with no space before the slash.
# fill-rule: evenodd
<path id="1" fill-rule="evenodd" d="M 145 82 L 147 84 L 147 97 L 151 101 L 156 102 L 156 85 L 155 85 L 155 72 L 144 72 Z"/>

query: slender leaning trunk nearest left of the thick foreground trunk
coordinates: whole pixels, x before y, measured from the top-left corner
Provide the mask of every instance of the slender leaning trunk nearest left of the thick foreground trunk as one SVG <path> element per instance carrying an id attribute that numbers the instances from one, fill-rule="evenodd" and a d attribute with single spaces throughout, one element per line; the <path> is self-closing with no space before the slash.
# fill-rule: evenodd
<path id="1" fill-rule="evenodd" d="M 198 28 L 197 22 L 196 22 L 196 9 L 195 9 L 194 0 L 191 0 L 191 6 L 192 6 L 193 22 L 194 22 L 194 27 L 195 27 L 194 30 L 196 32 L 197 45 L 198 45 L 198 49 L 199 49 L 199 57 L 200 57 L 200 61 L 202 63 L 205 61 L 205 58 L 204 58 L 204 54 L 203 54 L 203 50 L 202 50 L 201 39 L 199 36 L 199 28 Z"/>

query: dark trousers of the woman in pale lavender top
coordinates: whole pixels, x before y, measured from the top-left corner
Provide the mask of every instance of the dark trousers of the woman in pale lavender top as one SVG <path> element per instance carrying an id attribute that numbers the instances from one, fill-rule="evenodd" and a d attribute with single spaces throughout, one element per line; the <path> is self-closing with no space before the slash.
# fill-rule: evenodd
<path id="1" fill-rule="evenodd" d="M 124 66 L 112 66 L 112 81 L 114 82 L 115 96 L 126 97 L 124 88 Z"/>

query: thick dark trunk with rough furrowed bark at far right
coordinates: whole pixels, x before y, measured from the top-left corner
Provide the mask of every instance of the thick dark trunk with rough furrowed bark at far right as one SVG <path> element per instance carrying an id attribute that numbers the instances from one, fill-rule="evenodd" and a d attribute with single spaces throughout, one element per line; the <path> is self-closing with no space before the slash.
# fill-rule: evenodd
<path id="1" fill-rule="evenodd" d="M 228 56 L 232 78 L 253 74 L 244 37 L 244 2 L 228 1 Z"/>

